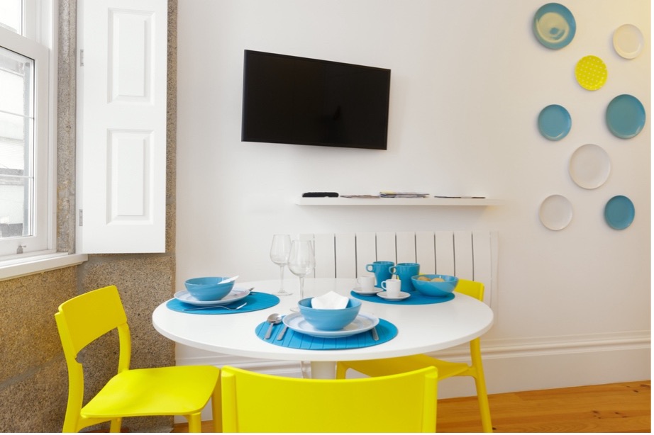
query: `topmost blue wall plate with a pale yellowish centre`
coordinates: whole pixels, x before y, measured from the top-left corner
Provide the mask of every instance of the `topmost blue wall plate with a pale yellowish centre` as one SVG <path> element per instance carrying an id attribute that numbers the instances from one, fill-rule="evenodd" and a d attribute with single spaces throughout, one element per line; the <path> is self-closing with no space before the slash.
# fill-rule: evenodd
<path id="1" fill-rule="evenodd" d="M 533 17 L 533 34 L 539 43 L 553 50 L 570 44 L 575 38 L 577 22 L 570 9 L 562 4 L 548 3 L 541 6 Z"/>

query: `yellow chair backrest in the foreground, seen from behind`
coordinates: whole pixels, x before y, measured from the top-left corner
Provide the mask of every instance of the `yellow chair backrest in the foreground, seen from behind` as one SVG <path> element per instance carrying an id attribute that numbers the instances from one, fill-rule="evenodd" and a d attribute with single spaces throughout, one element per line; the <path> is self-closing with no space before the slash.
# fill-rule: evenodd
<path id="1" fill-rule="evenodd" d="M 298 379 L 223 367 L 226 432 L 433 432 L 435 368 L 365 379 Z"/>

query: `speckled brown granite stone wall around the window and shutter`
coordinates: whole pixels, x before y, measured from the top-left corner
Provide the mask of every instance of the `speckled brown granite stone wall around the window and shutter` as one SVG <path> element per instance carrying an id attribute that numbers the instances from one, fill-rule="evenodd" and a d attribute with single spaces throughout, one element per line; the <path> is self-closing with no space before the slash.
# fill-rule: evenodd
<path id="1" fill-rule="evenodd" d="M 57 249 L 74 252 L 76 1 L 59 2 Z M 174 293 L 177 0 L 169 0 L 167 221 L 164 254 L 89 255 L 80 266 L 0 281 L 0 431 L 61 431 L 68 393 L 54 314 L 63 301 L 116 285 L 132 334 L 133 368 L 174 365 L 174 344 L 152 326 L 152 312 Z M 116 334 L 84 351 L 85 395 L 116 373 Z M 108 428 L 108 424 L 101 425 Z M 123 420 L 128 431 L 170 431 L 171 417 Z"/>

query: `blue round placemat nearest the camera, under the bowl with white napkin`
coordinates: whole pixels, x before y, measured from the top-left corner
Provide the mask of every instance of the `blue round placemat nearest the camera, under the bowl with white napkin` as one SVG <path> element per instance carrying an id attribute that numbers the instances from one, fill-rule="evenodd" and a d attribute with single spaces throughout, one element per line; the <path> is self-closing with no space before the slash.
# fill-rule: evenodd
<path id="1" fill-rule="evenodd" d="M 268 329 L 268 322 L 262 322 L 257 325 L 255 332 L 257 337 L 263 340 Z M 284 327 L 283 323 L 275 325 L 272 329 L 272 335 L 267 341 L 275 346 L 290 347 L 292 349 L 307 349 L 312 351 L 328 351 L 338 349 L 358 349 L 360 347 L 376 346 L 377 344 L 386 343 L 394 339 L 397 335 L 397 327 L 388 320 L 379 319 L 379 324 L 375 327 L 379 340 L 372 339 L 370 331 L 361 332 L 360 334 L 350 335 L 350 337 L 311 337 L 311 335 L 295 332 L 287 329 L 284 338 L 277 339 L 277 334 Z"/>

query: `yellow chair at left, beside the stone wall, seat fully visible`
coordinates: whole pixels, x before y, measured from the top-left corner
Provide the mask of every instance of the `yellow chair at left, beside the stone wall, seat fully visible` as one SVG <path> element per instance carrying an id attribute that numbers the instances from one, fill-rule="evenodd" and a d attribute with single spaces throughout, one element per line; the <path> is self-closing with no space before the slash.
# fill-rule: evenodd
<path id="1" fill-rule="evenodd" d="M 213 366 L 129 369 L 131 338 L 116 286 L 93 290 L 67 300 L 55 314 L 68 366 L 68 405 L 64 432 L 111 421 L 121 429 L 121 417 L 183 415 L 189 431 L 201 432 L 202 408 L 212 398 L 214 429 L 221 430 L 220 370 Z M 118 374 L 89 402 L 84 402 L 84 369 L 77 354 L 89 343 L 118 329 Z"/>

